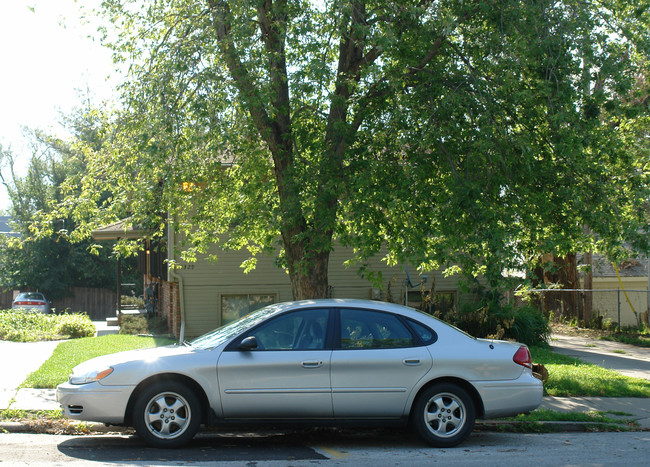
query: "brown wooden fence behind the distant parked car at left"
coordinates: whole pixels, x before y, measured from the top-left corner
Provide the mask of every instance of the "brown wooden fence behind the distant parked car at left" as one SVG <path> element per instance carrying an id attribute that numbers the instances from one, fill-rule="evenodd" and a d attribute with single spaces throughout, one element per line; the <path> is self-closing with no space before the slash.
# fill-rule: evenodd
<path id="1" fill-rule="evenodd" d="M 71 287 L 68 295 L 64 298 L 53 300 L 52 308 L 58 313 L 64 310 L 72 312 L 84 312 L 93 321 L 102 321 L 110 316 L 115 316 L 114 290 L 96 289 L 88 287 Z M 5 291 L 0 294 L 0 308 L 11 308 L 13 291 Z"/>

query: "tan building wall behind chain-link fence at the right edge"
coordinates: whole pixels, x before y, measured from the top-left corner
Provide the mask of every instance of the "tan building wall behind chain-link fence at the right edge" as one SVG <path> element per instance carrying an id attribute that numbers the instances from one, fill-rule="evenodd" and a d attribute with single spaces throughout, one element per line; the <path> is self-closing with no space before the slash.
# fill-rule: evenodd
<path id="1" fill-rule="evenodd" d="M 650 300 L 648 259 L 629 259 L 617 264 L 616 268 L 618 276 L 610 261 L 594 255 L 593 315 L 620 323 L 621 326 L 635 326 L 640 321 L 647 323 Z"/>

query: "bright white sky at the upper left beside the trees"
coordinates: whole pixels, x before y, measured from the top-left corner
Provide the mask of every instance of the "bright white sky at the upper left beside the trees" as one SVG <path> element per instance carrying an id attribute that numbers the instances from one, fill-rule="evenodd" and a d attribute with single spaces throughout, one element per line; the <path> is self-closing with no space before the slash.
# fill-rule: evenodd
<path id="1" fill-rule="evenodd" d="M 99 1 L 0 0 L 0 144 L 18 156 L 19 174 L 31 156 L 23 127 L 65 137 L 61 115 L 80 104 L 80 90 L 95 103 L 111 98 L 111 54 L 90 37 L 96 27 L 82 20 L 80 3 Z M 9 204 L 2 187 L 0 210 Z"/>

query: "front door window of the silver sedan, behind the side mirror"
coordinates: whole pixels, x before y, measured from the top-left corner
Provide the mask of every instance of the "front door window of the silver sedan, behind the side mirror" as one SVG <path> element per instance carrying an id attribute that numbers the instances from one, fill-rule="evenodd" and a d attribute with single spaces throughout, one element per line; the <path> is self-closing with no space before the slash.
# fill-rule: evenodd
<path id="1" fill-rule="evenodd" d="M 329 310 L 286 313 L 254 329 L 257 350 L 319 350 L 325 348 Z"/>

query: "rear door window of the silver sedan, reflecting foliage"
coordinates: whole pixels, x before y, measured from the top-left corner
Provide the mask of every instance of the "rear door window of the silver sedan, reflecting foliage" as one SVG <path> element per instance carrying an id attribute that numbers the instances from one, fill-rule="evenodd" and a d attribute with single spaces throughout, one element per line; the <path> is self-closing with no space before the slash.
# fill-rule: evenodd
<path id="1" fill-rule="evenodd" d="M 394 315 L 341 310 L 342 349 L 391 349 L 414 345 L 413 335 Z"/>

